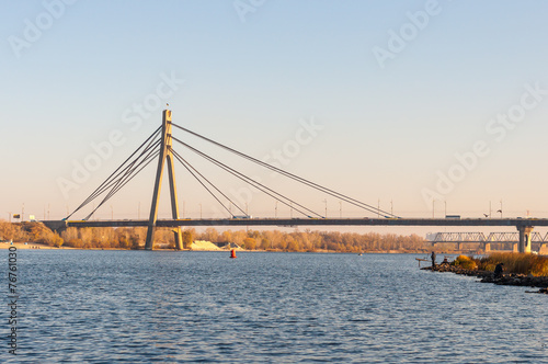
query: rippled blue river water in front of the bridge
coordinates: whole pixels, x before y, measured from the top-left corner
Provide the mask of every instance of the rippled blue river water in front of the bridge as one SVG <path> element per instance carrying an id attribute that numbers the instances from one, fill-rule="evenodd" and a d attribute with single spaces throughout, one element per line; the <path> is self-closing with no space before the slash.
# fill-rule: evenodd
<path id="1" fill-rule="evenodd" d="M 548 297 L 527 288 L 411 254 L 228 255 L 19 250 L 0 362 L 548 363 Z"/>

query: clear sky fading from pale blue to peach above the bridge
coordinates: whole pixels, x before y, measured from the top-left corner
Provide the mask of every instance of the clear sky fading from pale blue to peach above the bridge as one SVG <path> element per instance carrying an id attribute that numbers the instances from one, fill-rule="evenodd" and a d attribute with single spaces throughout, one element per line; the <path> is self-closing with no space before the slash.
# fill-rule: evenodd
<path id="1" fill-rule="evenodd" d="M 546 13 L 499 0 L 3 1 L 0 218 L 67 216 L 167 103 L 178 125 L 398 216 L 548 217 Z M 174 135 L 321 215 L 375 217 Z M 249 215 L 298 216 L 174 148 Z M 148 216 L 155 173 L 156 161 L 95 218 Z M 175 175 L 184 217 L 227 216 Z"/>

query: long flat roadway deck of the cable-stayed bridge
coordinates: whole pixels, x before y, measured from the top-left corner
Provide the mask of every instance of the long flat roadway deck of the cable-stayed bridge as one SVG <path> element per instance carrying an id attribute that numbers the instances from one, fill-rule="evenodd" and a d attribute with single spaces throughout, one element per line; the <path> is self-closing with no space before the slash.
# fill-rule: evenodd
<path id="1" fill-rule="evenodd" d="M 67 227 L 138 227 L 148 220 L 45 220 L 54 230 Z M 548 226 L 548 218 L 218 218 L 159 219 L 157 227 L 176 226 Z"/>

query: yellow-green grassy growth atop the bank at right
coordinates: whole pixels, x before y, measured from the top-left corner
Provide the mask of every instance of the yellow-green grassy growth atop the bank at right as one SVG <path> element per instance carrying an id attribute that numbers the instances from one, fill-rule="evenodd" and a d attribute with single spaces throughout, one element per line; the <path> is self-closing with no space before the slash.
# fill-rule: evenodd
<path id="1" fill-rule="evenodd" d="M 504 273 L 548 276 L 548 257 L 525 253 L 492 253 L 481 259 L 458 255 L 454 265 L 468 270 L 494 271 L 496 264 L 504 264 Z"/>

